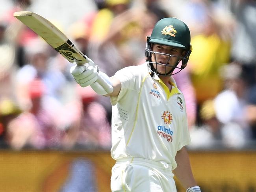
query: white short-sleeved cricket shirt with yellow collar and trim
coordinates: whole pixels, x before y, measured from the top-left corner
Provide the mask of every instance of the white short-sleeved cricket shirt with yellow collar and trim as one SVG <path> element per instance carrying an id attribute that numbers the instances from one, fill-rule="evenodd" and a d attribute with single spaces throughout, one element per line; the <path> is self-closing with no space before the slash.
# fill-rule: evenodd
<path id="1" fill-rule="evenodd" d="M 128 66 L 115 77 L 122 87 L 118 96 L 111 96 L 113 159 L 140 157 L 164 161 L 175 169 L 176 152 L 190 144 L 184 96 L 174 79 L 171 92 L 154 75 L 147 63 Z"/>

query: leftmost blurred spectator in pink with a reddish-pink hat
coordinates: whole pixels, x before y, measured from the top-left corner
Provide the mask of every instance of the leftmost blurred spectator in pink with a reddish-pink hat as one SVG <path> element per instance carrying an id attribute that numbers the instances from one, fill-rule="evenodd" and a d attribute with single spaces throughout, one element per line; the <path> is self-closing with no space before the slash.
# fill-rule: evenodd
<path id="1" fill-rule="evenodd" d="M 31 99 L 30 110 L 21 113 L 7 127 L 9 144 L 12 148 L 20 150 L 28 146 L 45 149 L 60 146 L 61 131 L 52 114 L 44 108 L 42 102 L 44 91 L 45 85 L 39 79 L 30 83 L 28 92 Z"/>

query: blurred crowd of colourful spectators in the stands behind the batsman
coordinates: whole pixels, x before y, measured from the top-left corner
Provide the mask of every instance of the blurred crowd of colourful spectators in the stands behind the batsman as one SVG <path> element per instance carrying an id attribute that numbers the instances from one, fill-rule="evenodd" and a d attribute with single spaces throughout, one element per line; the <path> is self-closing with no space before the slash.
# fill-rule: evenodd
<path id="1" fill-rule="evenodd" d="M 0 147 L 109 149 L 109 98 L 79 87 L 72 64 L 13 17 L 24 10 L 46 17 L 47 1 L 0 2 Z M 58 3 L 62 15 L 55 17 Z M 239 149 L 256 141 L 255 0 L 72 3 L 55 0 L 46 18 L 109 76 L 145 62 L 146 37 L 158 20 L 183 20 L 193 52 L 173 77 L 185 96 L 191 148 Z"/>

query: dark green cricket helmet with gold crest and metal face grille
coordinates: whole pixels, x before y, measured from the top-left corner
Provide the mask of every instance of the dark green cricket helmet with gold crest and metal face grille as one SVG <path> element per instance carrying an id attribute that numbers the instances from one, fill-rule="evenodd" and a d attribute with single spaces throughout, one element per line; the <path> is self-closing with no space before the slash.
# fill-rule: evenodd
<path id="1" fill-rule="evenodd" d="M 167 66 L 170 66 L 170 65 L 168 65 L 168 62 L 166 64 L 158 63 L 157 61 L 152 62 L 152 59 L 151 59 L 152 57 L 154 57 L 156 60 L 156 54 L 161 54 L 158 52 L 153 52 L 151 50 L 152 44 L 154 43 L 184 49 L 186 51 L 186 54 L 184 57 L 178 58 L 176 65 L 173 66 L 173 69 L 171 71 L 165 72 L 164 74 L 160 73 L 157 71 L 158 65 L 165 65 L 165 69 Z M 191 52 L 192 52 L 192 46 L 190 44 L 189 28 L 184 22 L 182 22 L 177 18 L 168 17 L 168 18 L 163 18 L 159 20 L 154 26 L 151 36 L 147 37 L 147 45 L 146 45 L 145 53 L 146 53 L 146 60 L 148 63 L 148 69 L 152 75 L 153 73 L 155 73 L 158 75 L 171 76 L 173 75 L 172 72 L 175 68 L 180 69 L 178 71 L 180 72 L 187 65 L 187 61 L 189 60 L 189 55 L 191 54 Z M 169 55 L 169 54 L 165 54 L 165 55 Z M 171 57 L 176 57 L 176 56 L 169 55 L 168 61 L 170 60 Z M 180 61 L 182 61 L 182 65 L 178 67 L 178 64 L 180 63 Z M 156 64 L 156 68 L 153 66 L 154 63 Z"/>

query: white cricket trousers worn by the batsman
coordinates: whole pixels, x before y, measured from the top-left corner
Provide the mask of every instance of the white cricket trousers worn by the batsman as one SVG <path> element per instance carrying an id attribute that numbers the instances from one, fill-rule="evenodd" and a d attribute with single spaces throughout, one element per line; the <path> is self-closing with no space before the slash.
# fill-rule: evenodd
<path id="1" fill-rule="evenodd" d="M 112 192 L 177 192 L 170 164 L 128 157 L 112 168 Z"/>

